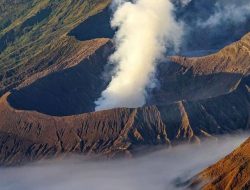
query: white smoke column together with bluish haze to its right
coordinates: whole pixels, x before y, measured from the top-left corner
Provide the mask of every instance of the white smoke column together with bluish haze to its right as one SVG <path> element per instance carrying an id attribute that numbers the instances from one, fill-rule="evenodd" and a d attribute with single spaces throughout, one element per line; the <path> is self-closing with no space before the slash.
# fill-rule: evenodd
<path id="1" fill-rule="evenodd" d="M 146 89 L 157 82 L 157 64 L 172 53 L 168 48 L 206 55 L 250 31 L 249 0 L 114 0 L 112 9 L 115 70 L 96 110 L 144 105 Z"/>

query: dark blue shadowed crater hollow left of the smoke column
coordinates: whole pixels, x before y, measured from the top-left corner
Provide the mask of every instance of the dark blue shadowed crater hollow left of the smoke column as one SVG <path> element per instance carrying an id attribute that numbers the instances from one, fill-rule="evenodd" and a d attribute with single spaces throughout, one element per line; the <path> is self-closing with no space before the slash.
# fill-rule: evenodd
<path id="1" fill-rule="evenodd" d="M 102 75 L 106 62 L 106 57 L 99 52 L 77 66 L 14 90 L 8 101 L 16 109 L 56 116 L 94 111 L 94 101 L 107 85 Z"/>

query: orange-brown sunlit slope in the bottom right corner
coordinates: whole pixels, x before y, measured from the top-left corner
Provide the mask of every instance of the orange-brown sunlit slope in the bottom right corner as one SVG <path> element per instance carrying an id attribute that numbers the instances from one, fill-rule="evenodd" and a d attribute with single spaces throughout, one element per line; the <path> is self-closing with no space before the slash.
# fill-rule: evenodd
<path id="1" fill-rule="evenodd" d="M 250 139 L 231 154 L 198 174 L 190 186 L 192 189 L 250 188 Z"/>

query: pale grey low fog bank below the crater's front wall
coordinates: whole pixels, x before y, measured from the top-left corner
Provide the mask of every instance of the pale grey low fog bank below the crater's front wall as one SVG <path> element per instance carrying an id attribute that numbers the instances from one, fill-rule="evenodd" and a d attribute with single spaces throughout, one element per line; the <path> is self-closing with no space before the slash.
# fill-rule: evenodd
<path id="1" fill-rule="evenodd" d="M 180 145 L 129 160 L 93 162 L 75 158 L 0 169 L 0 189 L 175 190 L 177 178 L 193 176 L 230 153 L 246 138 L 220 137 L 218 141 Z"/>

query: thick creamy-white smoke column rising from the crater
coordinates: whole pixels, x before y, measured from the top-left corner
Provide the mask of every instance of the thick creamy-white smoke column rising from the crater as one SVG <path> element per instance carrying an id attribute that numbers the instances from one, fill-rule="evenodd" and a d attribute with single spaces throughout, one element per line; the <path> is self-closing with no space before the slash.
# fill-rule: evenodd
<path id="1" fill-rule="evenodd" d="M 118 31 L 110 62 L 116 70 L 95 102 L 96 110 L 144 105 L 146 88 L 154 86 L 157 63 L 167 47 L 178 49 L 182 36 L 182 24 L 174 19 L 170 0 L 117 0 L 115 5 L 111 25 Z"/>

